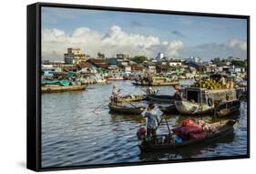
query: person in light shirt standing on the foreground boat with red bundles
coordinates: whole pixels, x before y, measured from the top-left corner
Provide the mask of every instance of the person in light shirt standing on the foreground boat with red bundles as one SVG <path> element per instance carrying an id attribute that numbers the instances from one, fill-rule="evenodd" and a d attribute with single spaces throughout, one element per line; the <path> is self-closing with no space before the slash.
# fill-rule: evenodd
<path id="1" fill-rule="evenodd" d="M 154 111 L 154 104 L 150 103 L 148 109 L 144 114 L 144 117 L 147 118 L 146 127 L 147 127 L 147 136 L 154 137 L 157 134 L 157 129 L 159 125 L 159 116 Z"/>

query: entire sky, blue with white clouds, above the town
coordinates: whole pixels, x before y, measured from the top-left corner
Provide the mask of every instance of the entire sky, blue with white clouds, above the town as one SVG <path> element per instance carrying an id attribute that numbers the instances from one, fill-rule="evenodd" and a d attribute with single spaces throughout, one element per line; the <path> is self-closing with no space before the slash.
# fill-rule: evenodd
<path id="1" fill-rule="evenodd" d="M 245 19 L 42 8 L 42 58 L 63 60 L 67 47 L 90 55 L 246 58 Z"/>

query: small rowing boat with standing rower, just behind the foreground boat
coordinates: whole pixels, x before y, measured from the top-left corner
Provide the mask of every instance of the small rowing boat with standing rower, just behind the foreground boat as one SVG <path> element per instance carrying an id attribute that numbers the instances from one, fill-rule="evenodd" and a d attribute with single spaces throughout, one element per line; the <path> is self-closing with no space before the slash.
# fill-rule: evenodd
<path id="1" fill-rule="evenodd" d="M 126 107 L 126 106 L 115 106 L 111 103 L 108 105 L 110 111 L 118 112 L 129 115 L 140 115 L 146 107 Z"/>

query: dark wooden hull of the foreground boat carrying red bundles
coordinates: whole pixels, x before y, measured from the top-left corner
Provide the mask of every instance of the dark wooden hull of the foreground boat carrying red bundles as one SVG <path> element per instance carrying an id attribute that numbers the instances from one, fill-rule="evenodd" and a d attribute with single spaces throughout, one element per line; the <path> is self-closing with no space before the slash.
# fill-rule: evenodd
<path id="1" fill-rule="evenodd" d="M 139 148 L 141 151 L 156 151 L 156 150 L 164 150 L 164 149 L 173 149 L 173 148 L 191 148 L 192 145 L 197 145 L 201 143 L 210 142 L 216 140 L 218 138 L 223 138 L 228 136 L 230 133 L 233 132 L 234 126 L 236 125 L 237 121 L 235 120 L 225 120 L 219 121 L 216 123 L 211 124 L 215 129 L 214 131 L 208 131 L 204 138 L 197 138 L 197 139 L 189 139 L 184 140 L 180 143 L 175 143 L 173 140 L 174 134 L 168 135 L 159 135 L 155 138 L 147 139 L 144 138 L 139 143 Z M 164 141 L 162 139 L 164 138 Z"/>

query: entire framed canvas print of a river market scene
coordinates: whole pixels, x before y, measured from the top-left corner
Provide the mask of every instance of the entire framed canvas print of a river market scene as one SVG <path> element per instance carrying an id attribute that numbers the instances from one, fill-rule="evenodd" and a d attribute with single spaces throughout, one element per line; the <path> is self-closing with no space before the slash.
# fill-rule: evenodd
<path id="1" fill-rule="evenodd" d="M 27 6 L 27 169 L 249 157 L 250 16 Z"/>

